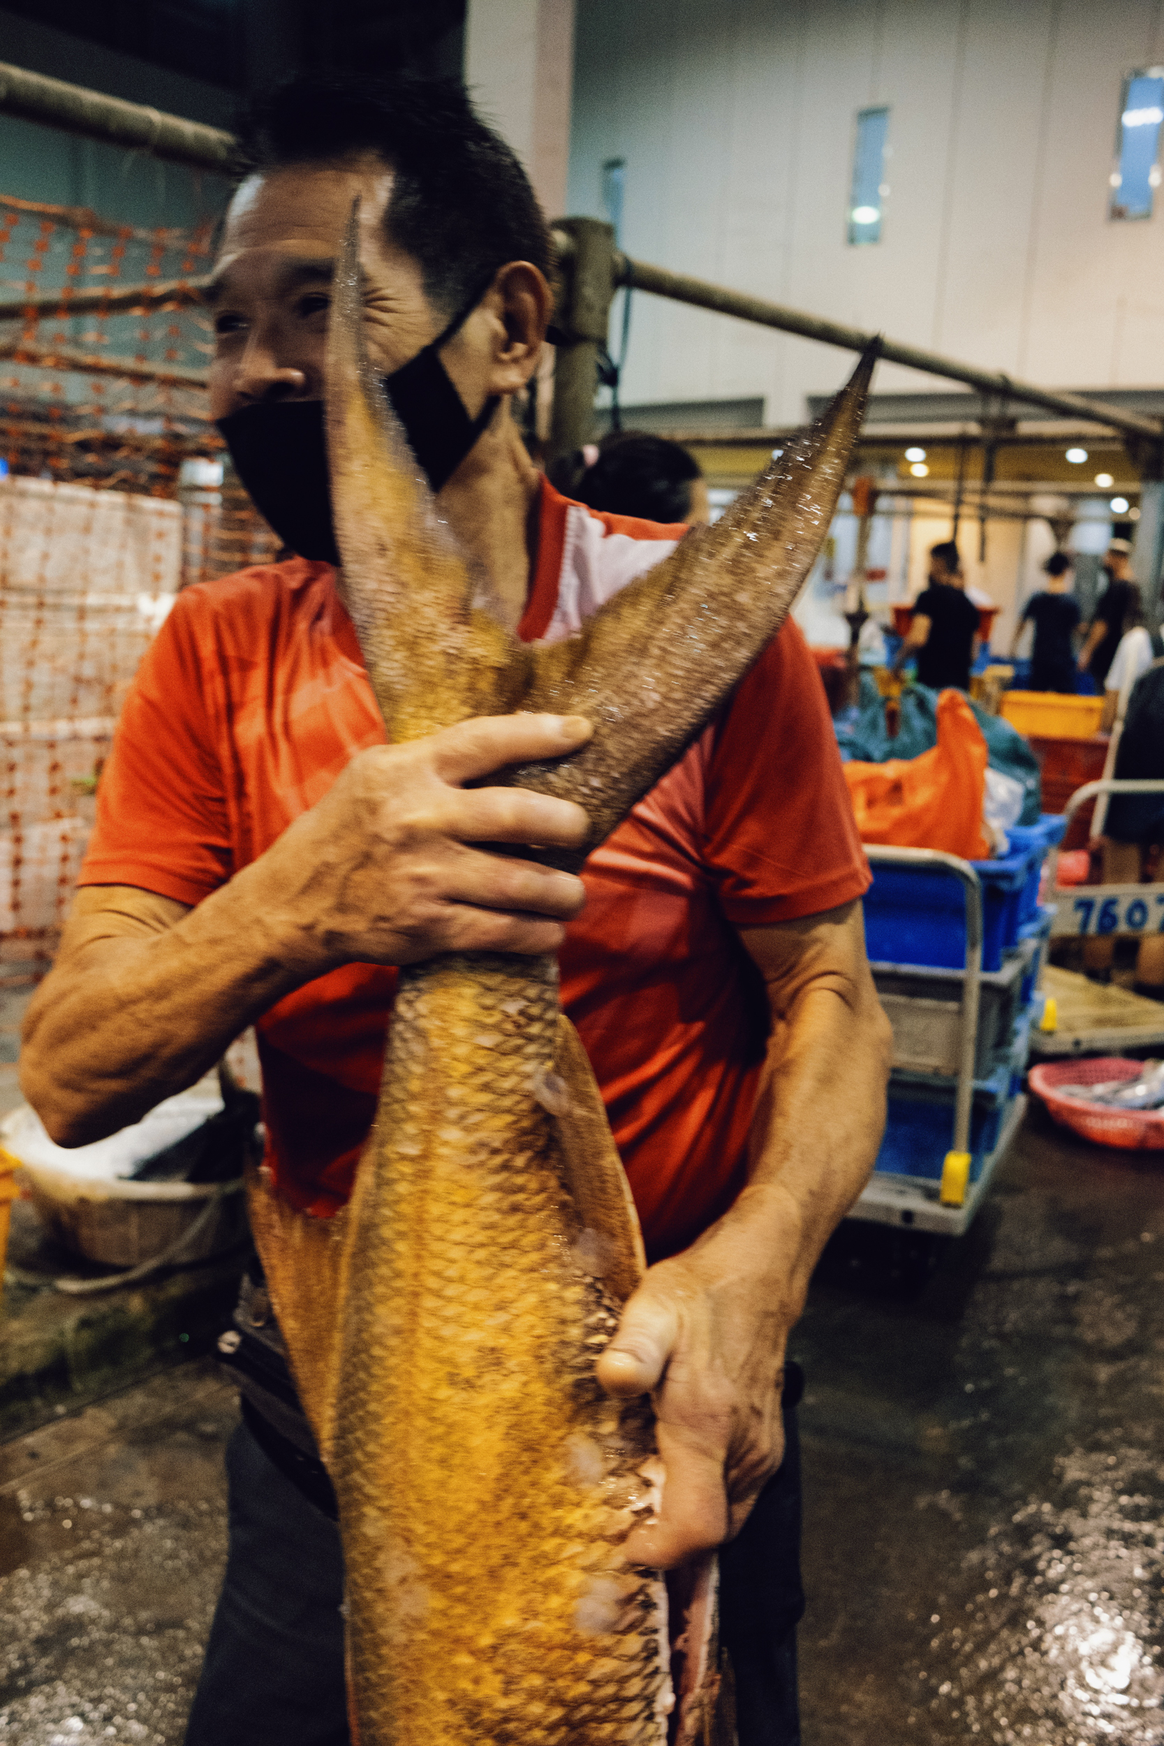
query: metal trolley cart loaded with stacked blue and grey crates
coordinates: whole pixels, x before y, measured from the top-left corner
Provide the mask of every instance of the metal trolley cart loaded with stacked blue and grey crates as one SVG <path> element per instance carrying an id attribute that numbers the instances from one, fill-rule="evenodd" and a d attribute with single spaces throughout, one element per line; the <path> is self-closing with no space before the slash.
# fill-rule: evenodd
<path id="1" fill-rule="evenodd" d="M 866 854 L 874 868 L 925 868 L 962 882 L 965 966 L 962 971 L 873 966 L 894 1023 L 890 1117 L 873 1180 L 850 1219 L 960 1236 L 1026 1109 L 1021 1077 L 1033 1018 L 1035 952 L 1019 946 L 1000 973 L 984 976 L 983 887 L 976 868 L 934 849 L 867 845 Z M 983 1002 L 984 985 L 988 1002 Z M 920 1053 L 921 1037 L 927 1042 Z"/>

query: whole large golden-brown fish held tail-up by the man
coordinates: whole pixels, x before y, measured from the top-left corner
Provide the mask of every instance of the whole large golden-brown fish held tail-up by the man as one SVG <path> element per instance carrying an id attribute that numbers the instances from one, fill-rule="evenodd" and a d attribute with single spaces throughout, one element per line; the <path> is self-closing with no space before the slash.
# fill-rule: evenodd
<path id="1" fill-rule="evenodd" d="M 440 522 L 363 356 L 356 222 L 328 339 L 340 588 L 391 740 L 475 714 L 583 714 L 593 739 L 503 780 L 576 800 L 581 864 L 780 629 L 829 527 L 873 372 L 714 529 L 564 643 L 518 643 Z M 789 747 L 796 756 L 796 747 Z M 595 1362 L 644 1269 L 627 1180 L 553 959 L 401 971 L 349 1208 L 253 1217 L 340 1502 L 359 1746 L 731 1741 L 714 1571 L 679 1704 L 667 1591 L 623 1543 L 658 1505 L 649 1400 Z M 672 1627 L 672 1638 L 677 1633 Z"/>

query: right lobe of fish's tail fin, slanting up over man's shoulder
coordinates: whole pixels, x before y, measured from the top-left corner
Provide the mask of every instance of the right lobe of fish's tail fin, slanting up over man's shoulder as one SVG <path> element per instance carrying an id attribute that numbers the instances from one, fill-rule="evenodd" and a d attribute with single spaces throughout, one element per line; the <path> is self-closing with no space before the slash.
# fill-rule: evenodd
<path id="1" fill-rule="evenodd" d="M 593 739 L 503 780 L 590 814 L 597 847 L 707 726 L 777 634 L 829 531 L 876 363 L 848 384 L 714 527 L 693 527 L 564 643 L 532 650 L 525 709 L 588 716 Z M 583 856 L 544 857 L 578 866 Z"/>

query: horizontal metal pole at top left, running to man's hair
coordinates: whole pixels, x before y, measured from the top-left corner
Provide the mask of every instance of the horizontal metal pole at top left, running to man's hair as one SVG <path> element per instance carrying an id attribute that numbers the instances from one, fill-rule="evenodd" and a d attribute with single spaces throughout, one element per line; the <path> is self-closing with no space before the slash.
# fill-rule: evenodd
<path id="1" fill-rule="evenodd" d="M 164 157 L 169 164 L 188 164 L 194 169 L 213 169 L 229 176 L 237 155 L 234 134 L 222 127 L 206 127 L 181 115 L 162 115 L 145 103 L 126 103 L 70 86 L 63 79 L 45 79 L 23 66 L 0 61 L 0 108 L 24 120 L 38 120 L 45 127 L 63 127 L 106 145 L 124 145 L 131 150 Z"/>

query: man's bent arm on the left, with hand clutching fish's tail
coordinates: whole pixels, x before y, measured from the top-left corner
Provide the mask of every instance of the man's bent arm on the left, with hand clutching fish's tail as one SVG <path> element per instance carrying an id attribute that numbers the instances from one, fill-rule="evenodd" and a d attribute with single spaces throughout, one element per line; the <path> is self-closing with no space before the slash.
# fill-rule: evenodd
<path id="1" fill-rule="evenodd" d="M 24 1020 L 21 1086 L 49 1135 L 84 1145 L 138 1121 L 276 1000 L 340 964 L 557 952 L 581 880 L 471 845 L 574 849 L 586 815 L 525 789 L 461 784 L 588 737 L 578 718 L 497 716 L 373 746 L 197 908 L 84 887 Z"/>

